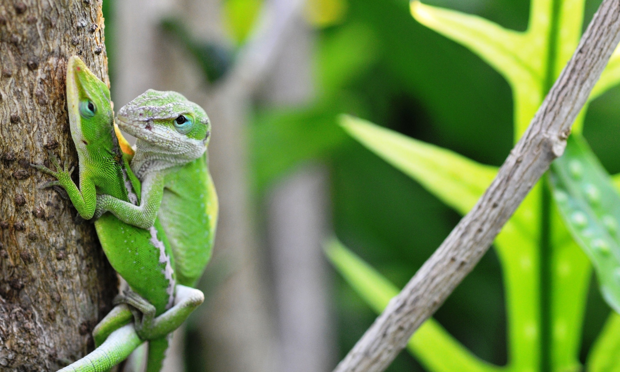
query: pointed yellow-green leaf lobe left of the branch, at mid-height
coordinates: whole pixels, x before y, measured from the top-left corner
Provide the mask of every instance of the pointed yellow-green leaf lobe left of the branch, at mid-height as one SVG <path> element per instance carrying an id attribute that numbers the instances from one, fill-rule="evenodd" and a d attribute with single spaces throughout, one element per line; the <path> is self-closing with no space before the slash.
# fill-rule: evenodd
<path id="1" fill-rule="evenodd" d="M 360 118 L 342 115 L 340 125 L 366 148 L 462 214 L 471 210 L 497 174 L 495 167 Z"/>

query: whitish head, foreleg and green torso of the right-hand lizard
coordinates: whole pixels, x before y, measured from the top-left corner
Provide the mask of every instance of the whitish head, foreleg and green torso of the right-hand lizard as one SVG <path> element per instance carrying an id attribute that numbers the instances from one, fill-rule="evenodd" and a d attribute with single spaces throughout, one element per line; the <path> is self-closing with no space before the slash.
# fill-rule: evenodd
<path id="1" fill-rule="evenodd" d="M 97 195 L 95 216 L 110 211 L 135 226 L 159 216 L 179 283 L 195 286 L 211 257 L 218 215 L 206 157 L 209 118 L 177 92 L 149 89 L 118 111 L 117 123 L 137 138 L 131 169 L 143 185 L 141 203 Z"/>

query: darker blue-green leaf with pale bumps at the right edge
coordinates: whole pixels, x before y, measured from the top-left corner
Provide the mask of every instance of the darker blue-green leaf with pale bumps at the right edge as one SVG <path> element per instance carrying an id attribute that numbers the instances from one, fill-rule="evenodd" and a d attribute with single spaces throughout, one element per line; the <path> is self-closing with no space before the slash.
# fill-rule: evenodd
<path id="1" fill-rule="evenodd" d="M 549 179 L 560 215 L 594 265 L 603 298 L 620 311 L 620 195 L 611 178 L 585 139 L 573 134 Z"/>

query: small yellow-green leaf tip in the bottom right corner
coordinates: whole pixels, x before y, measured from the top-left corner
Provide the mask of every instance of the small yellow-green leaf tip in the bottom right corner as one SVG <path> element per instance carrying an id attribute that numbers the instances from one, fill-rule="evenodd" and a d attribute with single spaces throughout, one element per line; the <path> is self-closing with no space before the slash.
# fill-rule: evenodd
<path id="1" fill-rule="evenodd" d="M 620 372 L 619 335 L 620 315 L 612 311 L 588 356 L 588 372 Z"/>

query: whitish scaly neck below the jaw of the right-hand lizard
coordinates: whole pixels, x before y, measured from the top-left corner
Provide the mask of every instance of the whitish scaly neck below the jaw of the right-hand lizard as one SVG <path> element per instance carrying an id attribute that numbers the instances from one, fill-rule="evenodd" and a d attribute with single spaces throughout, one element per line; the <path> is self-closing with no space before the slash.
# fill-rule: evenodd
<path id="1" fill-rule="evenodd" d="M 161 172 L 175 166 L 183 166 L 202 156 L 205 146 L 189 146 L 188 148 L 166 148 L 156 146 L 141 139 L 136 141 L 136 154 L 131 160 L 131 170 L 139 180 L 149 172 Z"/>

